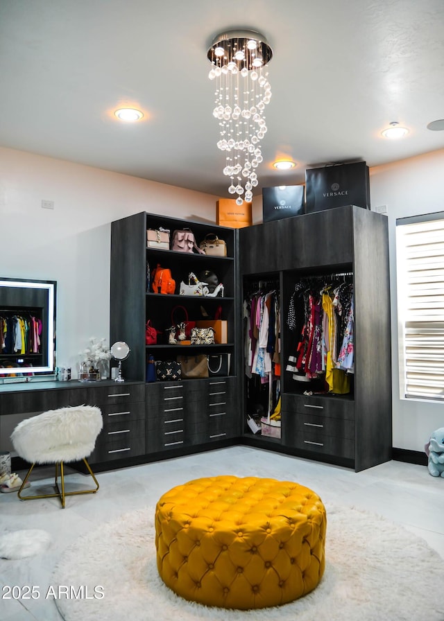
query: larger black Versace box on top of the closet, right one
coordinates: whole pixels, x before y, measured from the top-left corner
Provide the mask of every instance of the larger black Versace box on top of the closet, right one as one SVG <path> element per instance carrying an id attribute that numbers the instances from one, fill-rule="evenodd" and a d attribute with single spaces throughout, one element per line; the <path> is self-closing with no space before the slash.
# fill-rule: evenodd
<path id="1" fill-rule="evenodd" d="M 345 205 L 370 209 L 370 177 L 365 161 L 305 170 L 305 213 Z"/>

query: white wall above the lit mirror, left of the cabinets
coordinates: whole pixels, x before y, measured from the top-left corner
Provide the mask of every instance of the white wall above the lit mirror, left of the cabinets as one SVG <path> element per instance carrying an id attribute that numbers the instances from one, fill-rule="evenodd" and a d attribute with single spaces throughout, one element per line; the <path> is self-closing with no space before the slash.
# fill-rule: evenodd
<path id="1" fill-rule="evenodd" d="M 110 222 L 140 211 L 215 222 L 216 197 L 0 148 L 0 277 L 57 281 L 59 366 L 108 339 Z"/>

